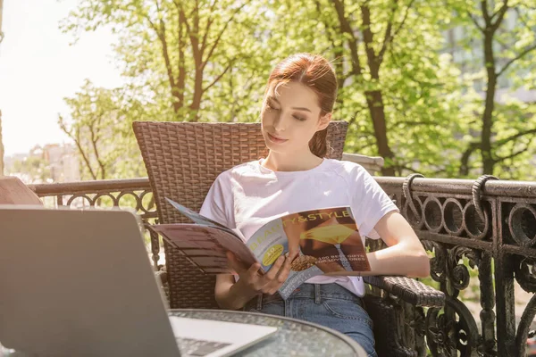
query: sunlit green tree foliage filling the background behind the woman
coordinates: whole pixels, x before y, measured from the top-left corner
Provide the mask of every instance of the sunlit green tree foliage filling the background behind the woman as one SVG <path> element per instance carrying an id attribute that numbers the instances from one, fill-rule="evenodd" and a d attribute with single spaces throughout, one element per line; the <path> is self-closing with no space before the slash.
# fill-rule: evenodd
<path id="1" fill-rule="evenodd" d="M 536 40 L 529 3 L 510 3 L 497 29 L 495 64 L 506 68 L 498 87 L 536 88 L 533 54 L 516 59 Z M 272 66 L 313 52 L 329 58 L 339 78 L 334 117 L 350 122 L 345 151 L 381 154 L 385 137 L 386 164 L 396 175 L 474 177 L 482 173 L 488 80 L 476 24 L 484 26 L 481 2 L 461 0 L 82 0 L 62 29 L 75 40 L 111 29 L 128 85 L 87 83 L 68 100 L 71 122 L 60 123 L 80 134 L 88 153 L 91 128 L 100 128 L 100 161 L 88 154 L 86 178 L 143 175 L 133 120 L 258 120 Z M 371 93 L 381 102 L 371 102 Z M 495 105 L 492 154 L 502 179 L 535 173 L 526 164 L 535 152 L 535 111 L 513 99 Z M 378 118 L 384 131 L 374 126 Z"/>

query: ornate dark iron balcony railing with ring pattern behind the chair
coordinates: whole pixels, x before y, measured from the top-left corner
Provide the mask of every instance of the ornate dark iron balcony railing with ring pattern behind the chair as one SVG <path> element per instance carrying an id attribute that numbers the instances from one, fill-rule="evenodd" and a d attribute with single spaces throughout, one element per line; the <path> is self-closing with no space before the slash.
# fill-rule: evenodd
<path id="1" fill-rule="evenodd" d="M 523 356 L 536 314 L 536 182 L 418 176 L 377 178 L 431 253 L 431 278 L 447 295 L 444 309 L 414 311 L 423 318 L 408 328 L 426 336 L 433 355 Z M 72 205 L 82 198 L 91 206 L 104 199 L 121 206 L 130 195 L 131 207 L 143 220 L 156 218 L 147 198 L 148 179 L 31 188 L 44 200 L 54 197 L 54 203 L 47 203 L 54 205 Z M 160 242 L 157 237 L 150 242 L 158 269 Z M 532 294 L 519 321 L 515 284 Z M 468 286 L 477 286 L 478 318 L 460 298 Z"/>

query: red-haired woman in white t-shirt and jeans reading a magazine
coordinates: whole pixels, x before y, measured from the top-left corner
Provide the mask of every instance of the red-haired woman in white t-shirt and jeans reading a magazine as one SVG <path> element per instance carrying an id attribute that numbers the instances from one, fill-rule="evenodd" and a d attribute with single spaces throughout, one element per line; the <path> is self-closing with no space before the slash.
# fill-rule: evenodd
<path id="1" fill-rule="evenodd" d="M 376 236 L 388 245 L 367 253 L 368 275 L 426 277 L 428 257 L 414 230 L 376 181 L 360 165 L 325 159 L 326 131 L 337 95 L 335 73 L 322 56 L 295 54 L 273 69 L 261 111 L 266 158 L 223 172 L 214 182 L 201 213 L 248 239 L 264 223 L 292 212 L 349 206 L 361 237 Z M 363 308 L 359 277 L 314 277 L 283 301 L 275 294 L 289 275 L 293 249 L 271 270 L 243 267 L 219 275 L 215 297 L 222 308 L 247 309 L 308 320 L 354 338 L 375 356 L 372 321 Z"/>

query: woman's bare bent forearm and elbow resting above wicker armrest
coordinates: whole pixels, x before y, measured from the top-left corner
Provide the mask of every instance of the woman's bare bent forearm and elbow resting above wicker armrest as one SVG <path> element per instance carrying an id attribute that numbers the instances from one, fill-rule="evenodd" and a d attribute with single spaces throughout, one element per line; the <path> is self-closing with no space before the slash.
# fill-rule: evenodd
<path id="1" fill-rule="evenodd" d="M 389 212 L 374 229 L 388 248 L 367 253 L 371 271 L 363 275 L 404 275 L 414 278 L 430 275 L 426 251 L 404 216 Z"/>

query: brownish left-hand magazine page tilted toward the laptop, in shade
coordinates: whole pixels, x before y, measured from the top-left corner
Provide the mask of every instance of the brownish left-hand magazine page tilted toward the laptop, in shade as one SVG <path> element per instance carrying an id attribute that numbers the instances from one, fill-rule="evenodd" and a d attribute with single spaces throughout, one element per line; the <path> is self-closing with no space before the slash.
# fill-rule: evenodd
<path id="1" fill-rule="evenodd" d="M 207 274 L 232 273 L 225 255 L 227 251 L 234 253 L 246 266 L 256 262 L 242 239 L 222 228 L 199 224 L 159 224 L 150 228 Z"/>

